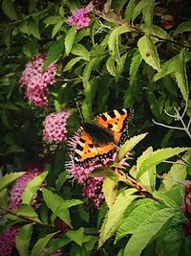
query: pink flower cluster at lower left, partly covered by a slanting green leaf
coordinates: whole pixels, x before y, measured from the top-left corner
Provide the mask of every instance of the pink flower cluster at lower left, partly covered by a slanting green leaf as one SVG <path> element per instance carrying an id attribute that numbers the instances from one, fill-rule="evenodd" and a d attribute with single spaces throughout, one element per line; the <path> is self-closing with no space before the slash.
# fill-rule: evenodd
<path id="1" fill-rule="evenodd" d="M 10 205 L 9 207 L 11 210 L 16 209 L 21 204 L 21 199 L 23 192 L 25 191 L 25 188 L 27 184 L 37 175 L 40 175 L 44 171 L 43 165 L 34 165 L 30 164 L 26 168 L 26 174 L 20 176 L 16 179 L 14 182 L 12 188 L 11 188 L 11 198 L 10 198 Z M 44 186 L 45 184 L 42 184 Z M 37 203 L 37 195 L 32 200 L 32 206 L 36 208 L 38 206 Z"/>

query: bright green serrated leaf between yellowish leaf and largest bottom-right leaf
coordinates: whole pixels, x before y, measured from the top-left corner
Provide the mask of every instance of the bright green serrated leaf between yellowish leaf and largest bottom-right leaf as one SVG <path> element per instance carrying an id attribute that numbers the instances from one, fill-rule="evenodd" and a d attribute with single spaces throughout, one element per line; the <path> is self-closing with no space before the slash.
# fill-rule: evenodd
<path id="1" fill-rule="evenodd" d="M 125 237 L 127 234 L 133 234 L 143 221 L 145 221 L 155 212 L 159 211 L 161 208 L 163 208 L 163 206 L 157 201 L 148 198 L 138 200 L 135 208 L 127 217 L 123 219 L 122 223 L 119 225 L 115 243 L 117 243 L 117 241 Z"/>

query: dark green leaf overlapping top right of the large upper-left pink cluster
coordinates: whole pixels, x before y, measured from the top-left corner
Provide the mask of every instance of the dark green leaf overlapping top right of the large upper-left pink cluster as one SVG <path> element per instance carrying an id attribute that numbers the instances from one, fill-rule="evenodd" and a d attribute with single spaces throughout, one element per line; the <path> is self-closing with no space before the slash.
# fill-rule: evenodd
<path id="1" fill-rule="evenodd" d="M 47 58 L 45 60 L 43 69 L 46 70 L 48 66 L 52 62 L 56 62 L 60 56 L 62 56 L 64 53 L 64 39 L 61 37 L 59 40 L 53 41 L 51 44 L 48 53 L 47 53 Z"/>

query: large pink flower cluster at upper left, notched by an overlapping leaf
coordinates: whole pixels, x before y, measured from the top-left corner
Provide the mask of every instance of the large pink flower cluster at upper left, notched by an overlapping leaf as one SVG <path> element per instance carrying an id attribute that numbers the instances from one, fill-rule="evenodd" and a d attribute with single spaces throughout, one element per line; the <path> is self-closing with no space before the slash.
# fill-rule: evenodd
<path id="1" fill-rule="evenodd" d="M 46 71 L 43 71 L 45 54 L 38 54 L 32 61 L 28 62 L 19 80 L 22 87 L 25 87 L 26 98 L 37 106 L 48 105 L 49 86 L 55 82 L 57 65 L 51 63 Z"/>

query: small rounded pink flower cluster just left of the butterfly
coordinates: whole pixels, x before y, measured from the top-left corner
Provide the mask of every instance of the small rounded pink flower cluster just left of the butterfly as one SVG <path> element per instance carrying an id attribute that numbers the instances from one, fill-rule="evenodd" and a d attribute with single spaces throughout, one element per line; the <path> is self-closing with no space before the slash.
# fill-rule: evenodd
<path id="1" fill-rule="evenodd" d="M 67 140 L 67 120 L 69 112 L 62 111 L 48 115 L 44 123 L 44 139 L 49 143 L 60 143 Z"/>

